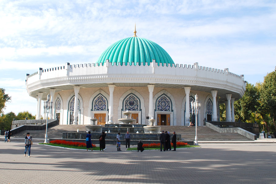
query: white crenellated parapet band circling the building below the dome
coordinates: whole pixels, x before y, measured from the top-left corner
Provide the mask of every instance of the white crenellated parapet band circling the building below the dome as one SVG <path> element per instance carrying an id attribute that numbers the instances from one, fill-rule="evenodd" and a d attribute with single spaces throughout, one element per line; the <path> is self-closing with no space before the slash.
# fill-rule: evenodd
<path id="1" fill-rule="evenodd" d="M 154 83 L 156 86 L 170 86 L 182 88 L 183 86 L 204 86 L 208 89 L 224 89 L 244 94 L 245 81 L 243 75 L 236 75 L 224 70 L 202 67 L 198 63 L 168 64 L 156 63 L 153 59 L 150 65 L 112 65 L 107 59 L 105 63 L 88 63 L 40 68 L 39 71 L 26 76 L 28 92 L 39 91 L 42 88 L 54 86 L 84 85 L 107 86 L 110 83 Z M 166 85 L 165 85 L 166 84 Z M 87 86 L 87 85 L 86 85 Z M 68 87 L 69 89 L 70 87 Z M 200 90 L 200 87 L 196 89 Z"/>

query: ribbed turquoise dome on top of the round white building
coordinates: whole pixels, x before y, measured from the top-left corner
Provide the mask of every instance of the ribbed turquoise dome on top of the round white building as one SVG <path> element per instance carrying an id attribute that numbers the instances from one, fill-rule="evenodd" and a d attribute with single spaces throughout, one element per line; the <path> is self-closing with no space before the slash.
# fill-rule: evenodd
<path id="1" fill-rule="evenodd" d="M 155 59 L 156 63 L 174 64 L 171 56 L 158 44 L 140 37 L 129 37 L 110 45 L 98 58 L 96 63 L 105 63 L 109 59 L 112 65 L 148 66 Z"/>

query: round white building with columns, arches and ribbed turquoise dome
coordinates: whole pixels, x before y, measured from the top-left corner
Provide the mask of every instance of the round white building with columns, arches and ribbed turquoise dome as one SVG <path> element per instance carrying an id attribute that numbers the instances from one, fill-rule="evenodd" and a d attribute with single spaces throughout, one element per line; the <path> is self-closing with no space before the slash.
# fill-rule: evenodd
<path id="1" fill-rule="evenodd" d="M 135 31 L 136 33 L 136 31 Z M 37 119 L 41 100 L 51 95 L 50 118 L 61 125 L 118 123 L 126 110 L 138 124 L 188 126 L 191 105 L 198 95 L 201 109 L 198 125 L 204 118 L 219 121 L 219 102 L 226 104 L 226 121 L 234 121 L 234 101 L 245 92 L 243 75 L 228 69 L 174 64 L 166 51 L 136 35 L 112 44 L 96 63 L 49 69 L 27 74 L 26 87 L 37 99 Z M 188 102 L 188 103 L 187 103 Z"/>

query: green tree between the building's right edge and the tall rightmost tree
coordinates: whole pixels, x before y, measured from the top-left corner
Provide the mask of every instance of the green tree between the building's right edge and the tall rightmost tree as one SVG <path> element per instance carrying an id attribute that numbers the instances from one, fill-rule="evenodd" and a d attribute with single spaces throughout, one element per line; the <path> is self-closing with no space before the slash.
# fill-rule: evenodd
<path id="1" fill-rule="evenodd" d="M 235 121 L 255 123 L 254 113 L 259 107 L 259 90 L 253 84 L 247 83 L 246 90 L 242 98 L 235 101 Z"/>

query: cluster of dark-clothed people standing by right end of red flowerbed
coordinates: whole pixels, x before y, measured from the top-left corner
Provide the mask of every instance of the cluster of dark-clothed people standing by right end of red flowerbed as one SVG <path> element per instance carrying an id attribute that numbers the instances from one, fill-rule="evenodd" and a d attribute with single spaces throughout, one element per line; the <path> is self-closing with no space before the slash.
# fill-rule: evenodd
<path id="1" fill-rule="evenodd" d="M 164 132 L 164 130 L 162 130 L 162 133 L 160 134 L 160 138 L 159 138 L 160 151 L 162 151 L 162 147 L 163 147 L 163 151 L 171 150 L 171 142 L 173 143 L 173 147 L 174 147 L 172 151 L 176 151 L 176 134 L 175 132 L 173 132 L 173 134 L 174 135 L 172 136 L 172 139 L 171 139 L 170 132 L 168 131 Z"/>

